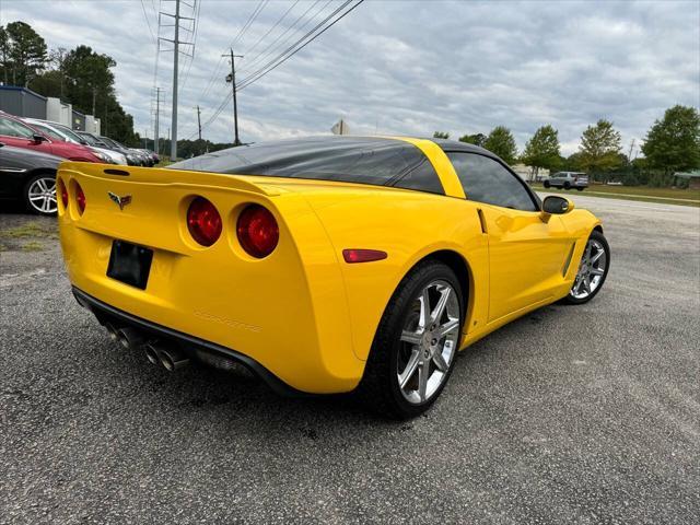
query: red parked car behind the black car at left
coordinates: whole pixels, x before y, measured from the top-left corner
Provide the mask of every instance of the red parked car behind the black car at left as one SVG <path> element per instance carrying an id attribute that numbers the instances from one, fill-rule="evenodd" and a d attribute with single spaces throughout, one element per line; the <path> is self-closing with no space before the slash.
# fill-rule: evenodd
<path id="1" fill-rule="evenodd" d="M 0 142 L 15 148 L 50 153 L 71 161 L 104 162 L 83 144 L 54 140 L 19 118 L 0 112 Z"/>

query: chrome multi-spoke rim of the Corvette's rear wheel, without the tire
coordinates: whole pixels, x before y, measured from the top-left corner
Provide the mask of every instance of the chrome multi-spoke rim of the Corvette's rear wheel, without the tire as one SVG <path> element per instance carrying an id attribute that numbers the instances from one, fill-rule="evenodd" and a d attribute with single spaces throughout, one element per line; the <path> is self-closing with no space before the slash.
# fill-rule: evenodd
<path id="1" fill-rule="evenodd" d="M 425 402 L 439 390 L 458 343 L 457 293 L 446 281 L 432 281 L 413 300 L 401 331 L 396 375 L 408 402 Z"/>

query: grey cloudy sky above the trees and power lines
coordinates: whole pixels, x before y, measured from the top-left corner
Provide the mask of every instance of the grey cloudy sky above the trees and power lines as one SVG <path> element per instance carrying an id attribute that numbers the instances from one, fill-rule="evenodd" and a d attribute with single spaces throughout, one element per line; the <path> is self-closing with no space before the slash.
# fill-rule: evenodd
<path id="1" fill-rule="evenodd" d="M 196 132 L 197 104 L 207 122 L 229 93 L 223 79 L 228 62 L 220 55 L 260 3 L 198 1 L 195 60 L 180 62 L 186 82 L 179 138 Z M 3 24 L 32 24 L 51 48 L 86 44 L 110 55 L 117 61 L 121 104 L 137 130 L 152 136 L 155 44 L 147 18 L 155 33 L 155 11 L 172 5 L 159 0 L 0 0 L 0 16 Z M 264 2 L 236 44 L 236 52 L 245 55 L 238 79 L 304 12 L 304 22 L 318 13 L 306 31 L 339 5 L 335 0 Z M 170 36 L 166 30 L 162 35 Z M 172 52 L 161 52 L 158 84 L 166 91 L 162 135 L 170 126 L 172 61 Z M 550 122 L 559 129 L 564 154 L 576 150 L 583 129 L 598 118 L 615 122 L 627 148 L 674 104 L 700 106 L 698 0 L 368 0 L 238 100 L 244 141 L 327 133 L 342 117 L 354 133 L 445 130 L 454 138 L 502 124 L 522 148 L 538 126 Z M 229 104 L 203 130 L 205 138 L 230 141 L 232 121 Z"/>

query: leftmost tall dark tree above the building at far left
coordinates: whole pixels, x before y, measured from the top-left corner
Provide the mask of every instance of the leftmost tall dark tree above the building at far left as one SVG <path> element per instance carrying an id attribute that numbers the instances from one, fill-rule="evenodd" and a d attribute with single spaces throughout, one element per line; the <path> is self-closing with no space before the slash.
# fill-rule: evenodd
<path id="1" fill-rule="evenodd" d="M 27 86 L 46 67 L 46 42 L 30 24 L 11 22 L 5 28 L 8 80 L 14 85 Z"/>

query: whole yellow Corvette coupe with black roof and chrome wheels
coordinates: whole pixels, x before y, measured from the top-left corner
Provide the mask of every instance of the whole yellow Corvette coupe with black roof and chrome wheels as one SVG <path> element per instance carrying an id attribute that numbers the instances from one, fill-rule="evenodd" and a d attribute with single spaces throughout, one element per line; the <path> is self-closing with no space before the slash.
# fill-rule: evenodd
<path id="1" fill-rule="evenodd" d="M 408 138 L 293 139 L 168 168 L 63 163 L 78 302 L 167 370 L 243 363 L 279 392 L 358 389 L 412 417 L 455 354 L 599 292 L 600 221 L 492 153 Z"/>

